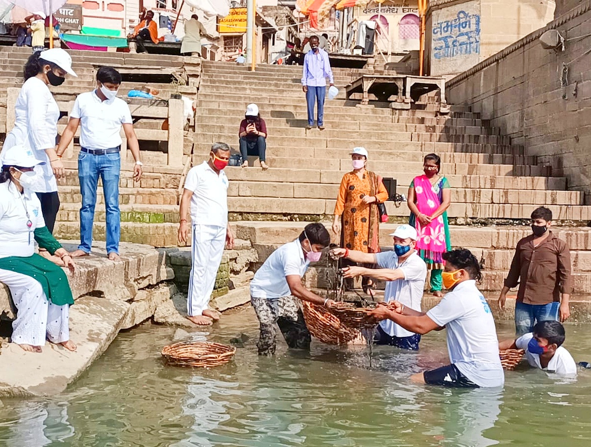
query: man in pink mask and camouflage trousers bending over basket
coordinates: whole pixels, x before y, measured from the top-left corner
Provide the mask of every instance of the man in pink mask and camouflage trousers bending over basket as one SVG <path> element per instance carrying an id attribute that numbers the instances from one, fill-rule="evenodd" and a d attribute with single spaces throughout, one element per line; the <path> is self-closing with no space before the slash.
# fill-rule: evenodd
<path id="1" fill-rule="evenodd" d="M 281 245 L 256 271 L 251 281 L 251 303 L 259 319 L 259 355 L 273 355 L 279 326 L 290 348 L 309 349 L 311 336 L 300 301 L 332 306 L 301 283 L 310 262 L 317 262 L 330 244 L 329 232 L 322 223 L 309 223 L 293 242 Z"/>

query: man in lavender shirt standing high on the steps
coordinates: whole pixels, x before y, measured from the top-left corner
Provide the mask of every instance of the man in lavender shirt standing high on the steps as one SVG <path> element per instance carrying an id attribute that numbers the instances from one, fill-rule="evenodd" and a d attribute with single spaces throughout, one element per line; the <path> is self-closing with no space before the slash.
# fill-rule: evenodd
<path id="1" fill-rule="evenodd" d="M 324 96 L 326 96 L 326 78 L 330 86 L 335 85 L 332 70 L 330 69 L 329 54 L 320 48 L 320 39 L 317 35 L 310 37 L 310 51 L 304 56 L 304 74 L 301 85 L 306 93 L 308 105 L 307 130 L 314 124 L 314 102 L 318 105 L 318 128 L 324 129 Z"/>

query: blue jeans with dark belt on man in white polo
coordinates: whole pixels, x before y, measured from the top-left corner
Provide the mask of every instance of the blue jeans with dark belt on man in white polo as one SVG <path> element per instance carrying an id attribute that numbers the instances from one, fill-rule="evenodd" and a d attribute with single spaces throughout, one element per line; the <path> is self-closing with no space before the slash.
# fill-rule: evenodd
<path id="1" fill-rule="evenodd" d="M 121 235 L 121 212 L 119 212 L 119 173 L 121 155 L 93 155 L 81 152 L 78 156 L 78 179 L 82 193 L 80 208 L 79 250 L 90 253 L 92 247 L 92 225 L 95 219 L 96 187 L 99 177 L 103 182 L 106 209 L 107 253 L 119 253 Z"/>

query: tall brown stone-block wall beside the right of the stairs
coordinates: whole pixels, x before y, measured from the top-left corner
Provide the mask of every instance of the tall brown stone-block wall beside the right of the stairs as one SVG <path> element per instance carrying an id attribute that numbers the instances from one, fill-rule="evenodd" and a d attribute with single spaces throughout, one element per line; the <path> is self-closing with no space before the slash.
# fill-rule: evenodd
<path id="1" fill-rule="evenodd" d="M 552 28 L 567 39 L 590 34 L 591 1 L 450 80 L 446 95 L 491 119 L 553 175 L 566 176 L 569 189 L 589 193 L 591 54 L 584 53 L 591 36 L 567 42 L 565 51 L 544 50 L 538 37 Z"/>

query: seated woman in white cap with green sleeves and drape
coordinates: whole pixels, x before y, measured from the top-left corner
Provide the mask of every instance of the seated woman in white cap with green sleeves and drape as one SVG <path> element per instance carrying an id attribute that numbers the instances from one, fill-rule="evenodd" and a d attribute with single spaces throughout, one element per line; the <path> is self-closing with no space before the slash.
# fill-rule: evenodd
<path id="1" fill-rule="evenodd" d="M 18 309 L 12 341 L 25 351 L 41 352 L 47 338 L 75 351 L 68 327 L 74 300 L 66 274 L 34 253 L 37 241 L 74 271 L 72 257 L 46 228 L 41 203 L 30 190 L 39 176 L 34 167 L 43 161 L 22 145 L 4 148 L 0 159 L 0 282 Z"/>

